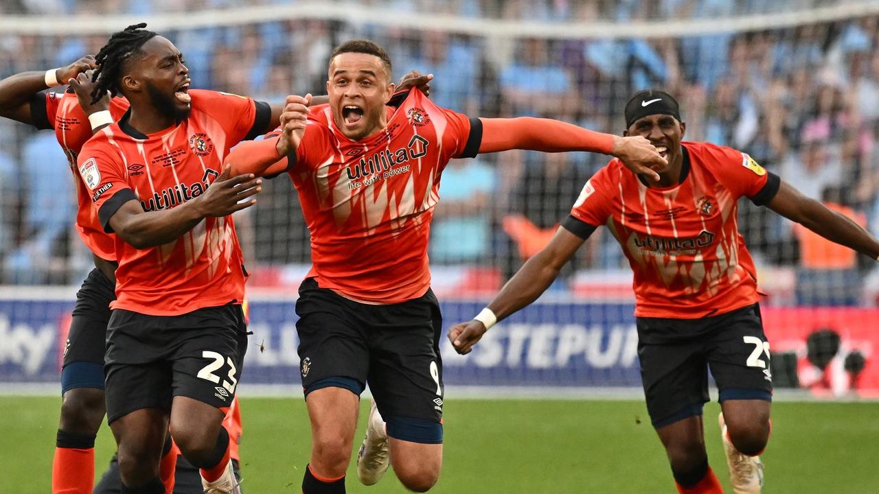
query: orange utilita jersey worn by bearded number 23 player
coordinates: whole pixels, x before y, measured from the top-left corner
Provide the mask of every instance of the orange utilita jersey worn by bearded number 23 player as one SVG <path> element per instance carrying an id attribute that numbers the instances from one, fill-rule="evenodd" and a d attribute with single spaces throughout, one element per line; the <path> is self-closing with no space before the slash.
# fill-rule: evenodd
<path id="1" fill-rule="evenodd" d="M 250 98 L 190 94 L 192 113 L 177 126 L 144 135 L 128 125 L 126 113 L 84 146 L 79 174 L 105 231 L 129 200 L 149 213 L 199 197 L 220 176 L 229 149 L 270 118 L 268 105 Z M 206 218 L 177 240 L 142 250 L 117 237 L 115 251 L 113 309 L 172 316 L 243 300 L 243 258 L 230 215 Z"/>

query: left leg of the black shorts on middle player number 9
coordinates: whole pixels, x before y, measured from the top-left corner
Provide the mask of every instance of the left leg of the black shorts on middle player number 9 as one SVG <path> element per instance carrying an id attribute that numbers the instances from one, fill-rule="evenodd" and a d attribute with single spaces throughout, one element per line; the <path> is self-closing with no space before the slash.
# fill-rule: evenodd
<path id="1" fill-rule="evenodd" d="M 306 401 L 317 389 L 342 388 L 360 396 L 367 382 L 365 327 L 371 307 L 349 301 L 315 280 L 302 282 L 296 301 L 296 332 Z"/>

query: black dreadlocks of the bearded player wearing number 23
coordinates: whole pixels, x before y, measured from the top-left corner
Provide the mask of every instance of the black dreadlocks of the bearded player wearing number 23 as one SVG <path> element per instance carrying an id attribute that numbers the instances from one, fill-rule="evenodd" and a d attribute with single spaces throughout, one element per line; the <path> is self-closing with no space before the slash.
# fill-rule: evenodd
<path id="1" fill-rule="evenodd" d="M 112 97 L 120 93 L 120 80 L 125 63 L 141 49 L 144 43 L 156 36 L 156 33 L 143 29 L 146 26 L 145 22 L 129 25 L 124 30 L 113 33 L 107 44 L 101 47 L 101 51 L 95 57 L 98 69 L 91 75 L 91 82 L 98 83 L 91 91 L 92 105 L 98 103 L 107 91 L 110 91 Z"/>

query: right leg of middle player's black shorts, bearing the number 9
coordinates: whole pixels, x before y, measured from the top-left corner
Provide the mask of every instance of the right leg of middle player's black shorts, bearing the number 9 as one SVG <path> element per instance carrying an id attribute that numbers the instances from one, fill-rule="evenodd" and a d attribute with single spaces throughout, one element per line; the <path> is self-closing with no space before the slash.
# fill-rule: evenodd
<path id="1" fill-rule="evenodd" d="M 442 318 L 432 292 L 386 308 L 386 325 L 370 333 L 369 389 L 389 437 L 442 443 Z"/>

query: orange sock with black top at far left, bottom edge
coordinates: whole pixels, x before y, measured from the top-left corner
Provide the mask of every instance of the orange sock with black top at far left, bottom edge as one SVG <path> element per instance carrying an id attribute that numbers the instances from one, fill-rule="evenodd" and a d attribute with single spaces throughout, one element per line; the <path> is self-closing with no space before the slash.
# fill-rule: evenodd
<path id="1" fill-rule="evenodd" d="M 95 436 L 58 430 L 52 460 L 52 494 L 91 494 L 95 483 Z"/>

